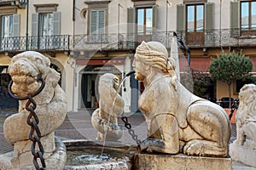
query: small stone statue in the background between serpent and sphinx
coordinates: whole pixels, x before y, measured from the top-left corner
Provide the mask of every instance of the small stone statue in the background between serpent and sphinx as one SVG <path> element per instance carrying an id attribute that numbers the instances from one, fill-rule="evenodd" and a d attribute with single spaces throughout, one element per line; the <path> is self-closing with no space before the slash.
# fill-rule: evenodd
<path id="1" fill-rule="evenodd" d="M 118 126 L 118 117 L 123 113 L 125 103 L 118 89 L 119 79 L 111 73 L 102 75 L 99 79 L 99 108 L 91 116 L 92 126 L 97 130 L 96 140 L 118 140 L 123 130 Z"/>

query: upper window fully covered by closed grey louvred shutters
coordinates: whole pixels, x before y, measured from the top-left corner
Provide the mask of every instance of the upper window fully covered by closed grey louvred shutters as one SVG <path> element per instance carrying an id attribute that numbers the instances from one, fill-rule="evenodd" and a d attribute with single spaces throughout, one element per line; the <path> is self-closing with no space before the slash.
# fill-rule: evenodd
<path id="1" fill-rule="evenodd" d="M 106 10 L 90 10 L 90 42 L 102 42 L 106 39 Z"/>

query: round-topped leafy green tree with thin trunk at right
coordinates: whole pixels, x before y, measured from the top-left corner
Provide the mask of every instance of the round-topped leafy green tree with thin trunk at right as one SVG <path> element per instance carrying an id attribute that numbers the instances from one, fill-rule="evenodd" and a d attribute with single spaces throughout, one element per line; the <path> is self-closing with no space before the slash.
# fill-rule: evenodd
<path id="1" fill-rule="evenodd" d="M 212 80 L 226 82 L 229 87 L 230 107 L 231 107 L 231 84 L 236 80 L 251 78 L 253 71 L 251 59 L 241 53 L 222 52 L 217 59 L 213 59 L 209 68 Z"/>

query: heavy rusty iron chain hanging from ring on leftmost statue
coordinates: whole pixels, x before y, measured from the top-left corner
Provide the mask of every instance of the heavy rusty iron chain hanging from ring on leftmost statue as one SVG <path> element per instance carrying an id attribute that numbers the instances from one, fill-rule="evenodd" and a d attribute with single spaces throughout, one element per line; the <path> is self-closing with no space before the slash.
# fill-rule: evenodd
<path id="1" fill-rule="evenodd" d="M 45 165 L 45 161 L 44 161 L 44 147 L 40 141 L 41 132 L 38 128 L 39 119 L 35 112 L 35 110 L 37 108 L 37 103 L 35 102 L 34 99 L 32 99 L 34 96 L 38 95 L 44 89 L 45 82 L 44 82 L 44 79 L 42 78 L 41 74 L 38 74 L 37 81 L 41 82 L 40 88 L 38 88 L 38 90 L 33 94 L 27 94 L 26 97 L 17 96 L 11 91 L 11 86 L 13 84 L 12 80 L 9 82 L 8 92 L 9 92 L 9 95 L 14 99 L 19 99 L 19 100 L 28 99 L 26 102 L 26 111 L 30 111 L 30 113 L 27 116 L 26 123 L 31 127 L 31 130 L 29 133 L 29 139 L 32 141 L 31 151 L 32 151 L 32 155 L 33 155 L 33 164 L 37 170 L 45 170 L 46 165 Z M 39 149 L 38 151 L 36 151 L 37 145 L 38 145 L 38 149 Z M 42 167 L 39 166 L 38 159 L 41 161 Z"/>

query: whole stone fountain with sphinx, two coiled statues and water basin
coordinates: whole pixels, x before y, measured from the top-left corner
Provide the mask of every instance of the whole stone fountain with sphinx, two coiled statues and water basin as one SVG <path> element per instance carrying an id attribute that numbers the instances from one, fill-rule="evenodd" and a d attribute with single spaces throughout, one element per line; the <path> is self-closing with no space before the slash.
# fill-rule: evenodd
<path id="1" fill-rule="evenodd" d="M 183 87 L 175 60 L 172 56 L 168 58 L 160 42 L 142 42 L 137 47 L 132 66 L 136 79 L 145 87 L 138 105 L 147 123 L 148 139 L 137 142 L 137 151 L 128 152 L 117 161 L 78 167 L 65 166 L 66 147 L 84 144 L 94 151 L 108 145 L 109 152 L 118 152 L 118 144 L 120 148 L 131 148 L 118 142 L 123 131 L 117 117 L 123 112 L 124 100 L 119 95 L 117 77 L 108 73 L 100 80 L 100 108 L 91 117 L 97 142 L 69 141 L 65 145 L 54 136 L 54 130 L 64 121 L 67 105 L 65 94 L 57 84 L 59 76 L 49 68 L 49 59 L 42 54 L 16 55 L 9 65 L 9 73 L 13 79 L 11 93 L 21 99 L 19 114 L 4 122 L 4 136 L 15 145 L 15 150 L 12 158 L 0 158 L 5 166 L 1 168 L 33 169 L 32 160 L 39 160 L 38 166 L 47 169 L 231 169 L 228 116 L 219 105 Z M 26 122 L 32 122 L 29 124 L 33 127 Z"/>

